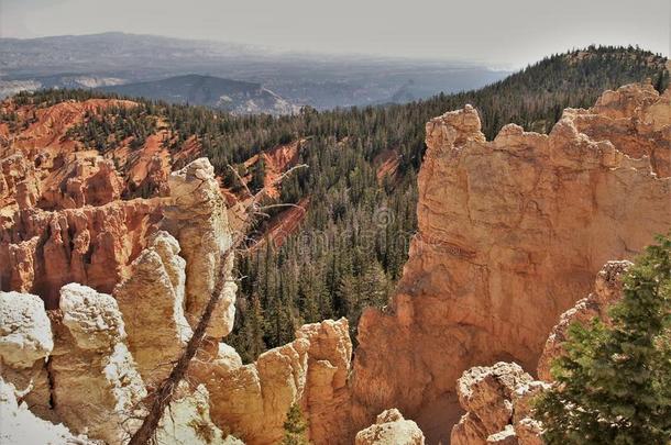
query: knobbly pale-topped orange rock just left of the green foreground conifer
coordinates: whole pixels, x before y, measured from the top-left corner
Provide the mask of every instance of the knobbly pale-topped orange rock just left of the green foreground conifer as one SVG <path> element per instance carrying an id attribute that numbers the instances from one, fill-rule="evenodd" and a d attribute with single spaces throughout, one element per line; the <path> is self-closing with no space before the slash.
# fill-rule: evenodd
<path id="1" fill-rule="evenodd" d="M 531 399 L 547 388 L 517 364 L 474 367 L 457 381 L 461 407 L 466 410 L 452 429 L 452 445 L 541 445 L 540 424 L 531 419 Z"/>

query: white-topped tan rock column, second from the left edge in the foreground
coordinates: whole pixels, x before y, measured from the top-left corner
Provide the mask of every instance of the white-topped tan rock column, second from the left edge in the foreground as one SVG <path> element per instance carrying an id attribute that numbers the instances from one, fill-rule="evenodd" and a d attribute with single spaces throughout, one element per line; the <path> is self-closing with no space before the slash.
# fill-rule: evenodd
<path id="1" fill-rule="evenodd" d="M 61 289 L 50 371 L 54 410 L 74 432 L 122 444 L 146 396 L 117 301 L 77 283 Z"/>

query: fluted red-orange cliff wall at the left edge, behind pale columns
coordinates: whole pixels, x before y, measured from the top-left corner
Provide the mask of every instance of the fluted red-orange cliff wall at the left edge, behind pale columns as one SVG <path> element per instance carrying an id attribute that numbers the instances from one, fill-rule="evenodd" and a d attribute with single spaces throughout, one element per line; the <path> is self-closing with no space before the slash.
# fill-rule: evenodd
<path id="1" fill-rule="evenodd" d="M 0 288 L 57 308 L 68 282 L 111 292 L 161 219 L 160 199 L 59 211 L 25 209 L 0 229 Z"/>

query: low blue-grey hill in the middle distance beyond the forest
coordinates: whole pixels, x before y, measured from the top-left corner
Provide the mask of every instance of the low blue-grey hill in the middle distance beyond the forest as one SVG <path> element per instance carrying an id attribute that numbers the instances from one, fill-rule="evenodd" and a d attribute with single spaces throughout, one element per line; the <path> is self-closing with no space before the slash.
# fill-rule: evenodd
<path id="1" fill-rule="evenodd" d="M 292 114 L 298 107 L 258 82 L 196 74 L 99 88 L 128 97 L 205 105 L 234 114 Z"/>

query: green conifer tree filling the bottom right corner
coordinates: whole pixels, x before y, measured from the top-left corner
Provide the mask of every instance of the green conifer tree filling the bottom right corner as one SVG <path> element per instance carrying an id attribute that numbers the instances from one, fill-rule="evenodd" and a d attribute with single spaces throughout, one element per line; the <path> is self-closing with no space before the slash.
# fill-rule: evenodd
<path id="1" fill-rule="evenodd" d="M 624 279 L 612 325 L 574 324 L 536 404 L 549 444 L 671 443 L 671 240 Z"/>

